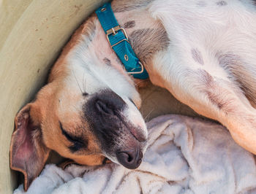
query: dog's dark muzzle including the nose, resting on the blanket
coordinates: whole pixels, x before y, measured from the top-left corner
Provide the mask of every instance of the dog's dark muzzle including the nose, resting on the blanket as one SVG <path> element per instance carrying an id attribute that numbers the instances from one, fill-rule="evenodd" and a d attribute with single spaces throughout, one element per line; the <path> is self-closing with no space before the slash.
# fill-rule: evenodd
<path id="1" fill-rule="evenodd" d="M 84 117 L 97 137 L 102 153 L 113 162 L 134 169 L 140 166 L 143 158 L 146 146 L 146 133 L 143 130 L 146 129 L 129 118 L 129 112 L 140 115 L 138 109 L 129 106 L 134 104 L 128 105 L 113 91 L 104 90 L 86 102 Z M 138 120 L 144 123 L 141 115 Z"/>

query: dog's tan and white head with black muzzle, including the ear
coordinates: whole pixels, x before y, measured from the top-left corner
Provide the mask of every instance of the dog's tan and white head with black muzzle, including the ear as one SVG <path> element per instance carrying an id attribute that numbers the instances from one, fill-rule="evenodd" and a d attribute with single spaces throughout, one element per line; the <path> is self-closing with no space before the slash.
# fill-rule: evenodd
<path id="1" fill-rule="evenodd" d="M 90 166 L 109 158 L 138 168 L 143 158 L 147 130 L 133 82 L 99 60 L 79 60 L 57 62 L 48 85 L 15 118 L 11 168 L 23 172 L 25 190 L 50 150 Z"/>

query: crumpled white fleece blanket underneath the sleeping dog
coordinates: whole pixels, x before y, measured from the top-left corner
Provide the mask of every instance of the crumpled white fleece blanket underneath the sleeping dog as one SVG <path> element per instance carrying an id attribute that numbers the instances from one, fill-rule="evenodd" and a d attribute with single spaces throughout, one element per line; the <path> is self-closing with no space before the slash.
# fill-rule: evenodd
<path id="1" fill-rule="evenodd" d="M 254 157 L 222 125 L 165 115 L 151 120 L 148 131 L 138 169 L 50 164 L 28 193 L 256 193 Z M 23 185 L 14 193 L 23 193 Z"/>

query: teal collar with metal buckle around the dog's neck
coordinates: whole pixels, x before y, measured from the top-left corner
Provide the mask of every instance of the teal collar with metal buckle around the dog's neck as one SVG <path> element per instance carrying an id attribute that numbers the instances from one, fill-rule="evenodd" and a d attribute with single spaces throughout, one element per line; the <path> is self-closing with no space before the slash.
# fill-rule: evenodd
<path id="1" fill-rule="evenodd" d="M 107 3 L 99 7 L 96 14 L 107 35 L 110 46 L 124 64 L 128 74 L 132 74 L 133 77 L 138 79 L 147 79 L 148 72 L 132 50 L 126 31 L 118 25 L 111 4 Z"/>

